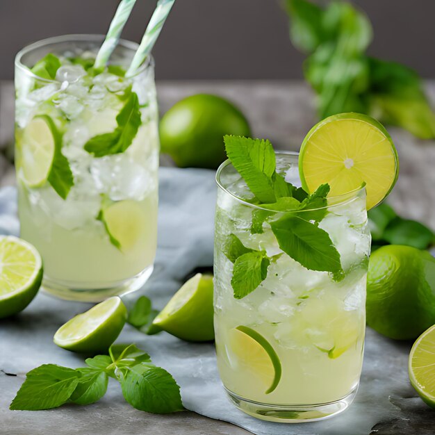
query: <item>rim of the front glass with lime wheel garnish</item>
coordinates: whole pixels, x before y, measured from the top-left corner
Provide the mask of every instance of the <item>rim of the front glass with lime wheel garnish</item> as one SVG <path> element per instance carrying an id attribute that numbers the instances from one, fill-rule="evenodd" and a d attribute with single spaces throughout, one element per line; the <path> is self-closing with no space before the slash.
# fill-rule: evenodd
<path id="1" fill-rule="evenodd" d="M 297 151 L 284 151 L 284 150 L 283 151 L 275 151 L 275 154 L 276 154 L 276 156 L 283 155 L 283 154 L 287 155 L 287 156 L 293 156 L 293 157 L 299 156 L 299 152 L 297 152 Z M 295 211 L 294 209 L 274 210 L 273 208 L 264 208 L 261 205 L 252 204 L 250 202 L 247 202 L 246 199 L 240 198 L 237 195 L 234 195 L 233 193 L 229 192 L 229 190 L 227 190 L 227 188 L 225 188 L 223 186 L 222 182 L 220 181 L 220 176 L 222 174 L 222 171 L 229 165 L 231 165 L 231 161 L 229 160 L 229 158 L 227 158 L 226 161 L 224 161 L 220 164 L 220 166 L 217 168 L 217 171 L 216 171 L 215 181 L 216 181 L 217 186 L 221 190 L 223 190 L 225 193 L 227 193 L 228 195 L 233 197 L 233 199 L 236 199 L 236 201 L 240 202 L 241 204 L 244 204 L 245 206 L 256 208 L 258 210 L 272 211 L 273 213 L 286 213 L 287 211 Z M 326 206 L 318 207 L 318 208 L 304 208 L 304 210 L 299 210 L 299 211 L 297 211 L 297 213 L 304 213 L 304 212 L 309 212 L 309 211 L 318 211 L 318 210 L 323 210 L 325 208 L 343 206 L 349 202 L 352 202 L 355 199 L 356 195 L 365 189 L 366 189 L 366 183 L 363 183 L 359 188 L 349 190 L 348 192 L 342 193 L 340 195 L 334 195 L 331 197 L 327 197 L 328 202 L 332 202 L 332 204 L 327 204 Z"/>

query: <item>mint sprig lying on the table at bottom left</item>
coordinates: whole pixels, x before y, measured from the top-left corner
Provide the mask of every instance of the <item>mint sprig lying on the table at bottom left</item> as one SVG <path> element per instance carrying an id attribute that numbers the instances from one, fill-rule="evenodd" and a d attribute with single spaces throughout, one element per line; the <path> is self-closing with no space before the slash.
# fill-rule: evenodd
<path id="1" fill-rule="evenodd" d="M 109 355 L 85 360 L 87 367 L 67 368 L 44 364 L 26 375 L 26 381 L 10 404 L 12 410 L 38 411 L 65 403 L 88 405 L 104 396 L 108 378 L 120 382 L 132 407 L 151 413 L 183 411 L 180 387 L 161 367 L 154 366 L 136 345 L 112 345 Z"/>

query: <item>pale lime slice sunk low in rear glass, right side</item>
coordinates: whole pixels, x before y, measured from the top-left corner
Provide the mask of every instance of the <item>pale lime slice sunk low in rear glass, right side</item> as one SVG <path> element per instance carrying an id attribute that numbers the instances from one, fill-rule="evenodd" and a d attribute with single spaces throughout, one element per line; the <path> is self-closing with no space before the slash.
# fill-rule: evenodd
<path id="1" fill-rule="evenodd" d="M 110 241 L 122 251 L 143 240 L 147 231 L 147 211 L 140 202 L 131 199 L 114 202 L 101 213 Z"/>

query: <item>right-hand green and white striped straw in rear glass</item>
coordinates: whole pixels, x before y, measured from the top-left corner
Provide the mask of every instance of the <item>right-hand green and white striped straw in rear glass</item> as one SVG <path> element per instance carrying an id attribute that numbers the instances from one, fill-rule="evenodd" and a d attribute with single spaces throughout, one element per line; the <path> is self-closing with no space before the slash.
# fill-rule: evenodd
<path id="1" fill-rule="evenodd" d="M 174 2 L 175 0 L 158 0 L 156 10 L 154 10 L 154 14 L 149 20 L 147 30 L 143 35 L 138 51 L 136 51 L 133 60 L 131 60 L 131 65 L 125 74 L 127 77 L 136 74 L 140 65 L 145 62 L 145 59 L 151 53 L 154 44 L 156 44 L 158 35 L 160 35 L 163 24 L 165 24 L 167 15 L 169 15 L 172 6 L 174 6 Z"/>

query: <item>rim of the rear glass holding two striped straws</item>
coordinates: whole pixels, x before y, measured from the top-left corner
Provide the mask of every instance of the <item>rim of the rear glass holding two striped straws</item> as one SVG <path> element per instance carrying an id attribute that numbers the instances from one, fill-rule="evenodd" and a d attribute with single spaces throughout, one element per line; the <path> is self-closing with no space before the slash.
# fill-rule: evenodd
<path id="1" fill-rule="evenodd" d="M 30 76 L 32 79 L 37 79 L 38 81 L 44 81 L 46 83 L 61 83 L 56 79 L 46 79 L 44 77 L 38 76 L 38 74 L 34 74 L 29 67 L 27 67 L 26 65 L 24 65 L 24 63 L 22 63 L 21 61 L 22 57 L 25 54 L 28 54 L 35 49 L 39 49 L 49 44 L 56 44 L 58 42 L 68 42 L 68 41 L 102 43 L 104 41 L 104 38 L 106 38 L 106 35 L 102 35 L 99 33 L 72 33 L 69 35 L 58 35 L 58 36 L 51 36 L 50 38 L 44 38 L 42 40 L 32 42 L 31 44 L 28 44 L 25 47 L 23 47 L 21 50 L 19 50 L 18 53 L 15 55 L 15 62 L 14 62 L 15 67 L 22 70 L 22 72 L 24 72 L 27 76 Z M 139 44 L 137 42 L 125 40 L 122 38 L 118 41 L 118 45 L 122 46 L 125 49 L 129 49 L 131 51 L 136 51 L 139 47 Z M 148 56 L 148 58 L 145 60 L 144 63 L 142 63 L 138 71 L 136 71 L 136 73 L 133 74 L 133 76 L 129 76 L 128 79 L 133 79 L 134 77 L 138 76 L 149 67 L 154 67 L 153 56 Z"/>

